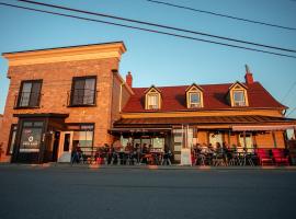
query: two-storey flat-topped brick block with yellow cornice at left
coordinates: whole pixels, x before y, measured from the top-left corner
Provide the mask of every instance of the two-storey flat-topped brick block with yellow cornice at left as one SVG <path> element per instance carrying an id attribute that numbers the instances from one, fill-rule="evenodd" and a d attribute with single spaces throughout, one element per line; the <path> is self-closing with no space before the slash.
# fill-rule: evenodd
<path id="1" fill-rule="evenodd" d="M 0 142 L 3 161 L 70 161 L 79 145 L 84 153 L 111 143 L 130 88 L 117 72 L 122 42 L 3 54 L 10 88 Z"/>

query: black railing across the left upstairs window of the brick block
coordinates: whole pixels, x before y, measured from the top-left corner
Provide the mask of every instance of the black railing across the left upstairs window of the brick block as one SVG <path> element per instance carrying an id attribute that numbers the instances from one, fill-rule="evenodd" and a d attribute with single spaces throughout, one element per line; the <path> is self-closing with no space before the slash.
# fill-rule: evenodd
<path id="1" fill-rule="evenodd" d="M 38 107 L 42 93 L 21 92 L 14 97 L 14 108 Z"/>

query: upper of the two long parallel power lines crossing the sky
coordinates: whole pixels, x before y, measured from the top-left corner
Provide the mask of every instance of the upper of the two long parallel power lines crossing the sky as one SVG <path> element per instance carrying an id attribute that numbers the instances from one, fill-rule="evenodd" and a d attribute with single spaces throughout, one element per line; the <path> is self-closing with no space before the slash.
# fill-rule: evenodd
<path id="1" fill-rule="evenodd" d="M 119 20 L 119 21 L 127 21 L 127 22 L 137 23 L 137 24 L 145 24 L 145 25 L 149 25 L 149 26 L 156 26 L 156 27 L 161 27 L 161 28 L 167 28 L 167 30 L 172 30 L 172 31 L 179 31 L 179 32 L 184 32 L 184 33 L 190 33 L 190 34 L 208 36 L 208 37 L 213 37 L 213 38 L 219 38 L 219 39 L 224 39 L 224 41 L 230 41 L 230 42 L 236 42 L 236 43 L 241 43 L 241 44 L 248 44 L 248 45 L 259 46 L 259 47 L 264 47 L 264 48 L 277 49 L 277 50 L 282 50 L 282 51 L 296 53 L 295 49 L 282 48 L 282 47 L 276 47 L 276 46 L 259 44 L 259 43 L 254 43 L 254 42 L 247 42 L 247 41 L 241 41 L 241 39 L 237 39 L 237 38 L 224 37 L 224 36 L 218 36 L 218 35 L 214 35 L 214 34 L 207 34 L 207 33 L 203 33 L 203 32 L 196 32 L 196 31 L 191 31 L 191 30 L 185 30 L 185 28 L 179 28 L 179 27 L 173 27 L 173 26 L 168 26 L 168 25 L 162 25 L 162 24 L 157 24 L 157 23 L 151 23 L 151 22 L 132 20 L 132 19 L 114 16 L 114 15 L 110 15 L 110 14 L 103 14 L 103 13 L 90 12 L 90 11 L 84 11 L 84 10 L 71 9 L 71 8 L 67 8 L 67 7 L 42 3 L 42 2 L 30 1 L 30 0 L 16 0 L 16 1 L 31 3 L 31 4 L 43 5 L 43 7 L 49 7 L 49 8 L 55 8 L 55 9 L 62 9 L 62 10 L 67 10 L 67 11 L 78 12 L 78 13 L 86 13 L 86 14 L 91 14 L 91 15 L 96 15 L 96 16 L 103 16 L 103 18 L 109 18 L 109 19 L 114 19 L 114 20 Z"/>

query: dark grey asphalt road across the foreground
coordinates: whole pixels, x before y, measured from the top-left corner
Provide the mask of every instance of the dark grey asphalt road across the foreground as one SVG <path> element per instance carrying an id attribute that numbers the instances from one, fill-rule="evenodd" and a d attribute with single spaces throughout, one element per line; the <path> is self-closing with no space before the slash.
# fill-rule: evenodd
<path id="1" fill-rule="evenodd" d="M 296 218 L 296 171 L 0 166 L 0 218 Z"/>

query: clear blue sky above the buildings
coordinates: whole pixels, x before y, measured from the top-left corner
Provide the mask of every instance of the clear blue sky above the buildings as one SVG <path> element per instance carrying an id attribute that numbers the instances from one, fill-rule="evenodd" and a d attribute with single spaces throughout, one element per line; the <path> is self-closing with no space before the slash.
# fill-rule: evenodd
<path id="1" fill-rule="evenodd" d="M 18 3 L 14 0 L 0 1 Z M 294 0 L 163 1 L 296 27 L 296 1 Z M 43 0 L 42 2 L 296 49 L 296 31 L 210 16 L 150 3 L 146 0 Z M 293 58 L 1 5 L 0 21 L 0 53 L 123 41 L 127 53 L 122 58 L 119 71 L 123 76 L 132 71 L 134 87 L 243 81 L 244 64 L 249 65 L 254 80 L 260 81 L 278 101 L 286 96 L 293 83 L 296 82 L 296 59 Z M 1 57 L 0 113 L 3 113 L 9 88 L 7 70 L 7 61 Z M 283 101 L 283 104 L 291 107 L 287 114 L 296 107 L 295 100 L 296 85 Z M 289 117 L 296 117 L 296 111 Z"/>

